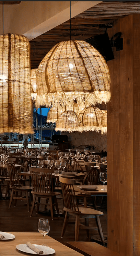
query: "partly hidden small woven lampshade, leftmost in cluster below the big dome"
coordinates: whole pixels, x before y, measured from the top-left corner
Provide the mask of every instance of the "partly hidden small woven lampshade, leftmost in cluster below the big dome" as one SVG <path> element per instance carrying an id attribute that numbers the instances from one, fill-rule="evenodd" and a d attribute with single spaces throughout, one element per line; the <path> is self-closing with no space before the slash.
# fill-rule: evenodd
<path id="1" fill-rule="evenodd" d="M 47 123 L 56 123 L 57 118 L 63 113 L 63 108 L 61 106 L 51 107 L 47 115 Z"/>

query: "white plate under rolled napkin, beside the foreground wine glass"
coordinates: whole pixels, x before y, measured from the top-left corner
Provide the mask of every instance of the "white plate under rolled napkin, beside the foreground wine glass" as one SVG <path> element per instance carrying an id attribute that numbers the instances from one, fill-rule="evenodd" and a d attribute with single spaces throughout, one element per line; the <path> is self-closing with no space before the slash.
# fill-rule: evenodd
<path id="1" fill-rule="evenodd" d="M 48 246 L 44 246 L 44 245 L 35 245 L 39 250 L 43 251 L 43 254 L 38 254 L 36 252 L 34 252 L 32 249 L 30 249 L 26 244 L 20 244 L 20 245 L 16 245 L 16 249 L 20 250 L 21 252 L 24 253 L 31 253 L 31 254 L 37 254 L 37 255 L 50 255 L 50 254 L 54 254 L 55 250 L 48 247 Z"/>

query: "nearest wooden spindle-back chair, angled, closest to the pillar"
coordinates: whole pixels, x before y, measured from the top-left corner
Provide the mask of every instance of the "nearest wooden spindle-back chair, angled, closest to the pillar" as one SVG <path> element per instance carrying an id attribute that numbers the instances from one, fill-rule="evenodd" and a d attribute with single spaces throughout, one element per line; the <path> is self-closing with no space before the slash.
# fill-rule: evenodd
<path id="1" fill-rule="evenodd" d="M 59 180 L 61 182 L 63 200 L 65 205 L 63 210 L 66 211 L 61 237 L 63 237 L 63 235 L 65 234 L 69 215 L 72 215 L 75 217 L 75 241 L 78 241 L 80 227 L 83 229 L 86 229 L 87 237 L 89 237 L 89 229 L 98 229 L 102 244 L 105 245 L 102 227 L 101 227 L 100 218 L 99 218 L 100 215 L 103 215 L 103 212 L 97 211 L 91 208 L 87 208 L 87 207 L 79 208 L 77 199 L 75 197 L 74 188 L 73 188 L 75 181 L 72 179 L 66 179 L 62 177 L 60 177 Z M 80 223 L 80 218 L 85 218 L 85 225 Z M 89 227 L 89 218 L 92 218 L 92 219 L 95 218 L 97 228 Z"/>

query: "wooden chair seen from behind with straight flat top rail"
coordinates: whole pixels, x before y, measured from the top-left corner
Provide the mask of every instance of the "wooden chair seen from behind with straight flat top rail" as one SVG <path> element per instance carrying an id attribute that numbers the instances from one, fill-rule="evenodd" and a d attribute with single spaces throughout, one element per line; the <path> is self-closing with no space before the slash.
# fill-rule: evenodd
<path id="1" fill-rule="evenodd" d="M 60 195 L 59 192 L 54 192 L 54 182 L 52 173 L 54 169 L 43 169 L 43 168 L 29 168 L 31 171 L 32 177 L 32 186 L 33 191 L 33 203 L 31 207 L 30 216 L 33 214 L 33 209 L 35 205 L 36 197 L 38 197 L 37 202 L 37 212 L 39 210 L 39 205 L 47 205 L 48 201 L 50 203 L 50 212 L 51 212 L 51 219 L 53 220 L 53 207 L 56 207 L 57 214 L 59 215 L 59 208 L 57 203 L 56 196 Z M 40 203 L 40 198 L 46 198 L 46 203 Z"/>

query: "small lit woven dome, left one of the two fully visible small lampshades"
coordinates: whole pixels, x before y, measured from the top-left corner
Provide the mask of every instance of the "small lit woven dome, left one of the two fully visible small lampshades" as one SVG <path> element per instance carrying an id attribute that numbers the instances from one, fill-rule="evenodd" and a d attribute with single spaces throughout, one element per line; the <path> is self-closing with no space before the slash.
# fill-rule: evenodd
<path id="1" fill-rule="evenodd" d="M 74 132 L 78 131 L 78 115 L 74 111 L 64 111 L 57 119 L 56 131 Z"/>

